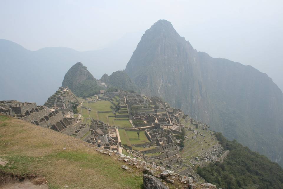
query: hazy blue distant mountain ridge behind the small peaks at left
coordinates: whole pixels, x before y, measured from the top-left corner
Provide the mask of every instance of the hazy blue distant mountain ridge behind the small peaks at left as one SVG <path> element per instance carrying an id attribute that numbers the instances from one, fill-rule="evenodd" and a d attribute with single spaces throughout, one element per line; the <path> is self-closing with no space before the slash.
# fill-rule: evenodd
<path id="1" fill-rule="evenodd" d="M 83 62 L 94 77 L 100 78 L 104 73 L 124 69 L 136 47 L 132 42 L 138 40 L 136 33 L 128 34 L 108 48 L 80 52 L 66 47 L 32 51 L 0 39 L 0 100 L 43 105 L 61 86 L 64 74 L 75 62 Z"/>

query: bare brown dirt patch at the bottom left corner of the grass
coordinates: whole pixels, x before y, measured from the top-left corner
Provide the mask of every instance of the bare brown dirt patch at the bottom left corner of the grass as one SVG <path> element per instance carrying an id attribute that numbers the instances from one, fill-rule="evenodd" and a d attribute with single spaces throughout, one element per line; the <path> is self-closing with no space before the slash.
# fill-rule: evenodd
<path id="1" fill-rule="evenodd" d="M 36 175 L 18 176 L 0 172 L 0 189 L 48 189 L 44 177 Z"/>

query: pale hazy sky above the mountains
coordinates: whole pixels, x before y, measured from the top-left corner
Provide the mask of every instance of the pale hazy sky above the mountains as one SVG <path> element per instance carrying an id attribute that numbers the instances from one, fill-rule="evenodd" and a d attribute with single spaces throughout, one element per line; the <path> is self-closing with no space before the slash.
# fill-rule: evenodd
<path id="1" fill-rule="evenodd" d="M 136 45 L 159 19 L 170 21 L 196 50 L 254 66 L 283 89 L 282 0 L 0 0 L 0 38 L 30 50 L 96 50 L 127 33 L 139 34 Z"/>

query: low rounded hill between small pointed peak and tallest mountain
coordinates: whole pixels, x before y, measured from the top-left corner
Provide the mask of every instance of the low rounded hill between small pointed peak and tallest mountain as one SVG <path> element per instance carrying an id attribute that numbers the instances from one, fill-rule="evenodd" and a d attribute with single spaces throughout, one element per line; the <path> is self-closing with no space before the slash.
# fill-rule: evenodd
<path id="1" fill-rule="evenodd" d="M 110 76 L 104 74 L 100 80 L 107 85 L 107 88 L 115 87 L 123 91 L 138 91 L 136 84 L 125 71 L 115 71 Z"/>

